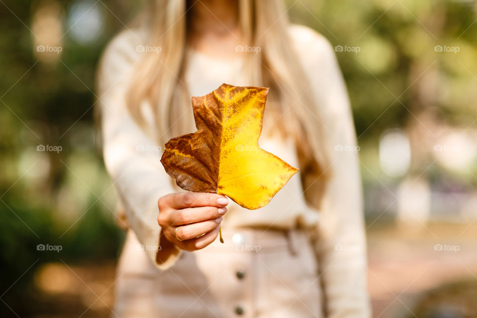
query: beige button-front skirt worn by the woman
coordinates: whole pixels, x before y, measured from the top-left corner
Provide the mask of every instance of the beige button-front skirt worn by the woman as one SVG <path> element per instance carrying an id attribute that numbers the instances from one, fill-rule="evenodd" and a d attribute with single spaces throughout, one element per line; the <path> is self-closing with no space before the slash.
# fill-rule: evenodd
<path id="1" fill-rule="evenodd" d="M 304 232 L 222 233 L 225 243 L 184 251 L 161 271 L 129 231 L 117 269 L 116 317 L 322 317 L 317 261 Z"/>

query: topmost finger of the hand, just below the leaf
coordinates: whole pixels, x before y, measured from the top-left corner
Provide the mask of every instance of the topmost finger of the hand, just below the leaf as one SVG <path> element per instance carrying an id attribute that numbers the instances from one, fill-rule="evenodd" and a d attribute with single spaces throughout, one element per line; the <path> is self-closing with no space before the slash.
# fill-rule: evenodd
<path id="1" fill-rule="evenodd" d="M 225 207 L 229 199 L 217 193 L 181 192 L 164 197 L 169 207 L 175 210 L 195 207 Z"/>

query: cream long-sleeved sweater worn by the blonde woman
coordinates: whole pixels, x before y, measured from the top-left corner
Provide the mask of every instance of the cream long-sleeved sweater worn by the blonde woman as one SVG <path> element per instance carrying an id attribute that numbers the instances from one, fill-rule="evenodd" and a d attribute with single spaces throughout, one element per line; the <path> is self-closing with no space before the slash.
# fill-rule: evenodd
<path id="1" fill-rule="evenodd" d="M 291 45 L 298 52 L 319 100 L 317 125 L 325 126 L 332 156 L 332 177 L 327 185 L 320 211 L 307 204 L 295 174 L 270 204 L 246 210 L 230 200 L 223 227 L 265 226 L 293 228 L 297 224 L 316 233 L 315 242 L 320 280 L 328 317 L 369 317 L 366 284 L 366 242 L 363 227 L 362 193 L 354 125 L 346 87 L 334 51 L 315 31 L 290 27 Z M 105 50 L 98 73 L 98 96 L 102 111 L 103 155 L 126 214 L 128 227 L 145 246 L 159 269 L 174 264 L 180 253 L 176 247 L 166 261 L 156 261 L 160 239 L 157 222 L 159 197 L 183 191 L 165 173 L 159 159 L 160 147 L 136 125 L 125 108 L 125 92 L 135 63 L 140 59 L 139 45 L 145 45 L 144 32 L 124 31 Z M 221 62 L 194 52 L 189 56 L 185 84 L 193 96 L 202 96 L 223 82 L 247 85 L 240 79 L 241 62 Z M 147 111 L 147 107 L 144 108 Z M 266 112 L 265 112 L 266 116 Z M 192 132 L 192 131 L 191 131 Z M 262 137 L 260 147 L 298 167 L 291 140 Z M 308 191 L 313 191 L 313 186 Z M 164 251 L 159 251 L 164 253 Z"/>

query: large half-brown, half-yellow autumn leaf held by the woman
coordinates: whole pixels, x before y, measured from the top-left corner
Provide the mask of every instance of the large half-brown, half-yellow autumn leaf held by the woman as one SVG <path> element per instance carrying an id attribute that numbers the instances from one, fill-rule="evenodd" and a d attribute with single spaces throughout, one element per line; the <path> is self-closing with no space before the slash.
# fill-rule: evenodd
<path id="1" fill-rule="evenodd" d="M 222 84 L 192 97 L 197 132 L 169 140 L 160 160 L 178 186 L 224 194 L 250 210 L 270 202 L 298 169 L 258 146 L 267 93 Z"/>

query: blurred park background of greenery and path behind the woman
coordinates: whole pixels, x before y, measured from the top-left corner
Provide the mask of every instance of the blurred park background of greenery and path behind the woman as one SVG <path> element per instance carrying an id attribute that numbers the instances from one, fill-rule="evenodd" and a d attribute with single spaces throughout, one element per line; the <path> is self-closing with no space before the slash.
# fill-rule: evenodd
<path id="1" fill-rule="evenodd" d="M 109 317 L 95 69 L 144 1 L 0 0 L 0 317 Z M 353 106 L 374 317 L 477 317 L 477 2 L 287 0 Z"/>

